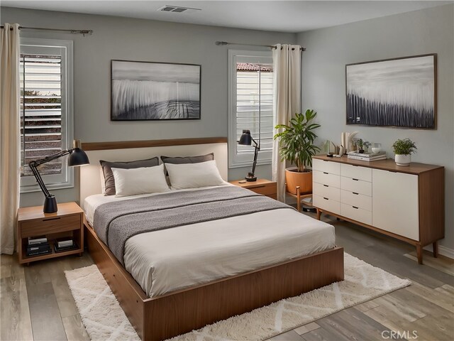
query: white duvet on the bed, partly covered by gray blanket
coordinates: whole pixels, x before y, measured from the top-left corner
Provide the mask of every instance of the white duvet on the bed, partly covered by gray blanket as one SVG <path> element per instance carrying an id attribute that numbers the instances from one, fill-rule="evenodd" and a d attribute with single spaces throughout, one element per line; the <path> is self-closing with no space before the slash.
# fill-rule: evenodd
<path id="1" fill-rule="evenodd" d="M 133 197 L 87 197 L 87 220 L 114 200 Z M 124 264 L 153 297 L 334 246 L 332 225 L 296 210 L 272 210 L 135 235 L 126 241 Z"/>

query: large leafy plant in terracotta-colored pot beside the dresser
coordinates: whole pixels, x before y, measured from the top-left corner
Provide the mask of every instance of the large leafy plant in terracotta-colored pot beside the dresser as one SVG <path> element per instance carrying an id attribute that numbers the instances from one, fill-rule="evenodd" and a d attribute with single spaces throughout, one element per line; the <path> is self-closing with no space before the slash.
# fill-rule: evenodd
<path id="1" fill-rule="evenodd" d="M 312 166 L 312 156 L 320 148 L 314 146 L 316 134 L 314 129 L 320 124 L 311 123 L 316 117 L 314 110 L 307 109 L 306 112 L 297 113 L 287 124 L 278 124 L 275 129 L 282 129 L 275 134 L 274 139 L 279 140 L 281 161 L 288 160 L 297 165 L 294 168 L 286 168 L 285 181 L 287 192 L 297 194 L 297 186 L 300 193 L 312 192 L 312 172 L 306 166 Z"/>

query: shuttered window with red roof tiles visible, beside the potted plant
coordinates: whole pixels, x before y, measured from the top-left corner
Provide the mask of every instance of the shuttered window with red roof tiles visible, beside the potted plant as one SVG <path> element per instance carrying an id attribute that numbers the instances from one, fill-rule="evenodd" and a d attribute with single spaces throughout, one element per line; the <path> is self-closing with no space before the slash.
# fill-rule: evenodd
<path id="1" fill-rule="evenodd" d="M 271 163 L 272 53 L 229 50 L 229 167 L 250 166 L 254 148 L 237 144 L 243 129 L 260 142 L 258 164 Z"/>

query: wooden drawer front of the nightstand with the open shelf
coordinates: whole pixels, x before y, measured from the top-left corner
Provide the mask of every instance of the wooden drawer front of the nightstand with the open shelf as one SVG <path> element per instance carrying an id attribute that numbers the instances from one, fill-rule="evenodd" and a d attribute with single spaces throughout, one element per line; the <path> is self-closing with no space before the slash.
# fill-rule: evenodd
<path id="1" fill-rule="evenodd" d="M 80 229 L 81 219 L 82 215 L 67 215 L 21 222 L 21 238 Z"/>

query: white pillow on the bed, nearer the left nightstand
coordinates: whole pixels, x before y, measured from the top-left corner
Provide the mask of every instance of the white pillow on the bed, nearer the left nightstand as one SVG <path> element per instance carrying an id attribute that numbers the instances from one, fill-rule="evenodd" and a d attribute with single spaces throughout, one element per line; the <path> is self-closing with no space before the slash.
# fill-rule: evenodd
<path id="1" fill-rule="evenodd" d="M 112 168 L 112 173 L 114 173 L 116 197 L 170 190 L 165 181 L 163 164 L 131 169 Z"/>

